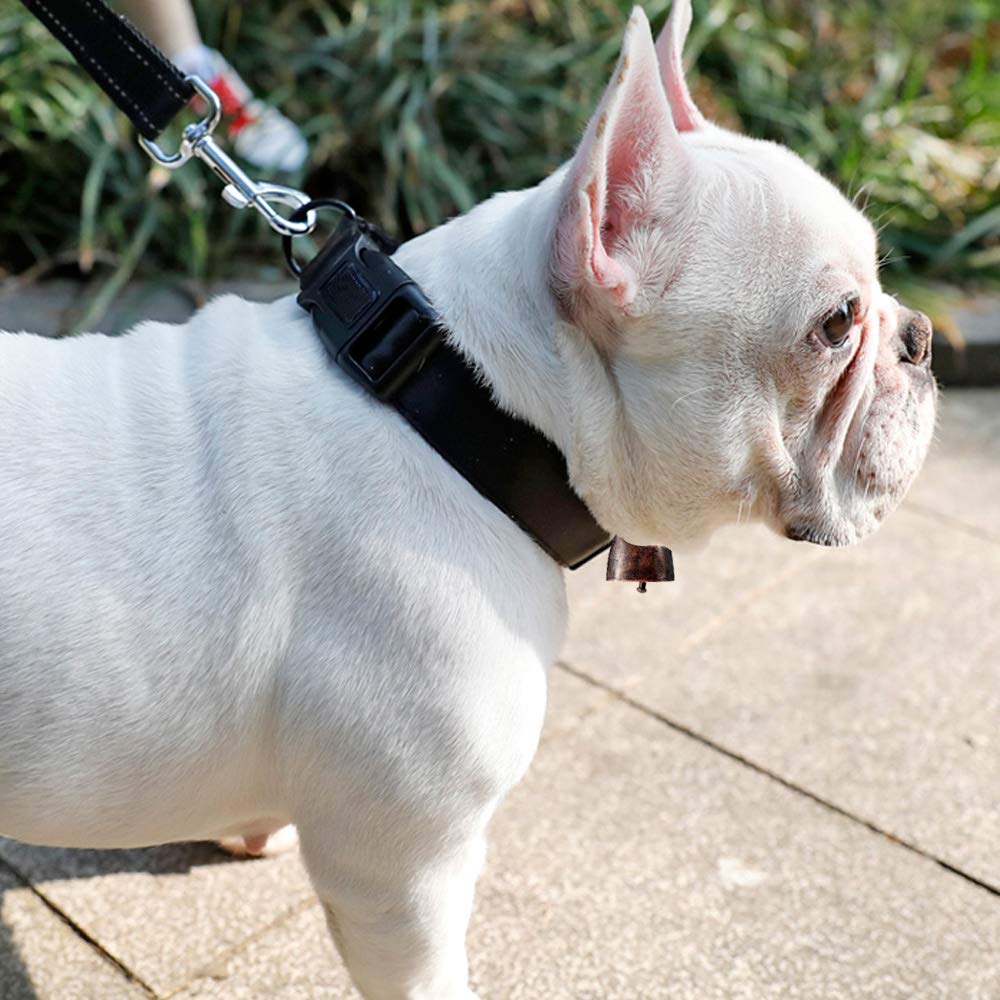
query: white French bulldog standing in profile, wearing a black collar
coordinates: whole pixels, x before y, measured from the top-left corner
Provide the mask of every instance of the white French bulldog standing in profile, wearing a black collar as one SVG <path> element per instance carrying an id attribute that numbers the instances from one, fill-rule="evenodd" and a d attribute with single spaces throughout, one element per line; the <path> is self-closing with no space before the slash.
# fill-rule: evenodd
<path id="1" fill-rule="evenodd" d="M 638 9 L 574 159 L 396 259 L 610 532 L 752 511 L 872 531 L 931 437 L 930 327 L 784 148 L 703 120 L 689 0 Z M 129 847 L 294 823 L 370 1000 L 458 1000 L 498 803 L 535 752 L 562 572 L 292 299 L 0 337 L 0 832 Z"/>

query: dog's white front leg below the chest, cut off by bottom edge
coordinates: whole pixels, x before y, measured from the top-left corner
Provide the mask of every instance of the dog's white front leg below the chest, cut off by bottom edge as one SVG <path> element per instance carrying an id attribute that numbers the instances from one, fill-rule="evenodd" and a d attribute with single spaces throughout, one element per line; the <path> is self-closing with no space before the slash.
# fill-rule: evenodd
<path id="1" fill-rule="evenodd" d="M 348 861 L 329 833 L 300 829 L 302 854 L 337 948 L 365 1000 L 476 1000 L 465 934 L 485 841 L 417 857 L 376 835 Z M 346 863 L 345 863 L 346 862 Z"/>

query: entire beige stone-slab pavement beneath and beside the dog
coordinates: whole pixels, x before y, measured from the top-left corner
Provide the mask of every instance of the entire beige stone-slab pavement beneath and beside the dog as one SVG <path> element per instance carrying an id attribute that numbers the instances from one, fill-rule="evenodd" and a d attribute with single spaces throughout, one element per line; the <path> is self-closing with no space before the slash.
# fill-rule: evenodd
<path id="1" fill-rule="evenodd" d="M 570 579 L 470 932 L 488 998 L 1000 998 L 1000 390 L 904 508 Z M 297 857 L 0 840 L 0 1000 L 353 996 Z"/>

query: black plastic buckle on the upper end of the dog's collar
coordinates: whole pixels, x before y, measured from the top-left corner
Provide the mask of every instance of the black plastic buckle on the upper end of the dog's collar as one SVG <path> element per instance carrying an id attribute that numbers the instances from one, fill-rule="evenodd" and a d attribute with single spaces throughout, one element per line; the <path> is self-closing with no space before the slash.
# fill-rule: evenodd
<path id="1" fill-rule="evenodd" d="M 347 218 L 303 270 L 308 309 L 337 364 L 388 401 L 441 343 L 438 314 L 417 283 Z"/>

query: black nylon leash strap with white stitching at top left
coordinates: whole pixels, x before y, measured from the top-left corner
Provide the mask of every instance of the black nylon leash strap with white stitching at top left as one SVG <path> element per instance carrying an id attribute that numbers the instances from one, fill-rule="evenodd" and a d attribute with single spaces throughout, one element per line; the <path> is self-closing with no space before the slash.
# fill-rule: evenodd
<path id="1" fill-rule="evenodd" d="M 194 97 L 184 74 L 101 0 L 22 2 L 147 139 L 155 139 Z"/>

